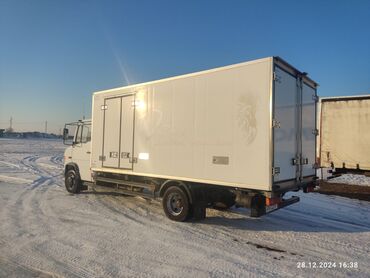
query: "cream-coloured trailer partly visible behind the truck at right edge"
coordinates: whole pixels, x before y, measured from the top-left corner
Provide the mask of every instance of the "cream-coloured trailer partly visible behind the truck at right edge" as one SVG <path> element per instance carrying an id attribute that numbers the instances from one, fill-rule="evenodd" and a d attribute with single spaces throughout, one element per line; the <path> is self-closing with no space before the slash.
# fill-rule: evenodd
<path id="1" fill-rule="evenodd" d="M 320 98 L 320 166 L 370 171 L 370 95 Z"/>

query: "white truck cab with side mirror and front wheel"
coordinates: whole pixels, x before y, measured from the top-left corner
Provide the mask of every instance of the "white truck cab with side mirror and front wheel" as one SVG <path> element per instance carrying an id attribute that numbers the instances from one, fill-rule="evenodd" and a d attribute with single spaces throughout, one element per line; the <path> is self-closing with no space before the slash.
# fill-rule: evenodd
<path id="1" fill-rule="evenodd" d="M 63 143 L 65 185 L 70 193 L 78 193 L 83 183 L 91 182 L 91 120 L 80 120 L 65 125 Z"/>

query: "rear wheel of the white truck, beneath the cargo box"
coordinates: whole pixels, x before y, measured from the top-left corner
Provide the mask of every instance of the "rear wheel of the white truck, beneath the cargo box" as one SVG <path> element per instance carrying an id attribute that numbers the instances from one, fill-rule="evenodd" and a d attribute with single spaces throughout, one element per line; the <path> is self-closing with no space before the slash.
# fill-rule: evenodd
<path id="1" fill-rule="evenodd" d="M 174 221 L 185 221 L 189 215 L 189 198 L 178 186 L 169 187 L 163 195 L 163 210 Z"/>

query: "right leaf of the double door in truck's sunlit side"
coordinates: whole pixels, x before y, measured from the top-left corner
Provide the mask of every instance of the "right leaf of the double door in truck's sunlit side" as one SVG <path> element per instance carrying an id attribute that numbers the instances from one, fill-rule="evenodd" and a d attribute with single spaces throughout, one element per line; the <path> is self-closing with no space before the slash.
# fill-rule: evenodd
<path id="1" fill-rule="evenodd" d="M 133 137 L 134 137 L 134 108 L 142 109 L 141 101 L 134 101 L 134 96 L 122 97 L 121 104 L 121 148 L 119 167 L 132 169 Z"/>

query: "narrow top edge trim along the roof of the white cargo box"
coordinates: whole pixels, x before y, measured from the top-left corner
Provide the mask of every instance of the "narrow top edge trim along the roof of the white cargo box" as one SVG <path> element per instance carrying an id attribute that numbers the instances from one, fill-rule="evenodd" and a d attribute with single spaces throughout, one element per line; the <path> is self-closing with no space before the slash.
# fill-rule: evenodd
<path id="1" fill-rule="evenodd" d="M 273 57 L 266 57 L 266 58 L 261 58 L 261 59 L 257 59 L 257 60 L 252 60 L 252 61 L 247 61 L 247 62 L 232 64 L 232 65 L 228 65 L 228 66 L 217 67 L 217 68 L 203 70 L 203 71 L 198 71 L 198 72 L 193 72 L 193 73 L 187 73 L 187 74 L 183 74 L 183 75 L 177 75 L 177 76 L 166 77 L 166 78 L 152 80 L 152 81 L 147 81 L 147 82 L 142 82 L 142 83 L 136 83 L 136 84 L 122 86 L 122 87 L 108 89 L 108 90 L 102 90 L 102 91 L 95 92 L 94 95 L 96 95 L 96 94 L 102 94 L 102 93 L 108 93 L 108 92 L 114 92 L 114 91 L 118 91 L 118 90 L 121 90 L 121 89 L 128 89 L 128 88 L 133 88 L 133 87 L 137 87 L 137 86 L 144 86 L 144 85 L 149 85 L 149 84 L 155 84 L 155 83 L 164 82 L 164 81 L 176 80 L 176 79 L 180 79 L 180 78 L 197 76 L 197 75 L 202 75 L 202 74 L 206 74 L 206 73 L 211 73 L 211 72 L 217 72 L 217 71 L 221 71 L 221 70 L 227 70 L 227 69 L 237 68 L 237 67 L 241 67 L 241 66 L 245 66 L 245 65 L 251 65 L 251 64 L 266 62 L 266 61 L 269 61 L 269 60 L 270 61 L 273 60 L 277 65 L 279 65 L 280 67 L 282 67 L 285 70 L 289 71 L 291 74 L 301 76 L 306 82 L 308 82 L 309 84 L 311 84 L 313 87 L 317 87 L 318 86 L 318 83 L 316 83 L 315 81 L 313 81 L 312 79 L 310 79 L 309 77 L 307 77 L 307 73 L 301 72 L 301 71 L 297 70 L 295 67 L 293 67 L 292 65 L 290 65 L 289 63 L 287 63 L 282 58 L 280 58 L 278 56 L 273 56 Z"/>

